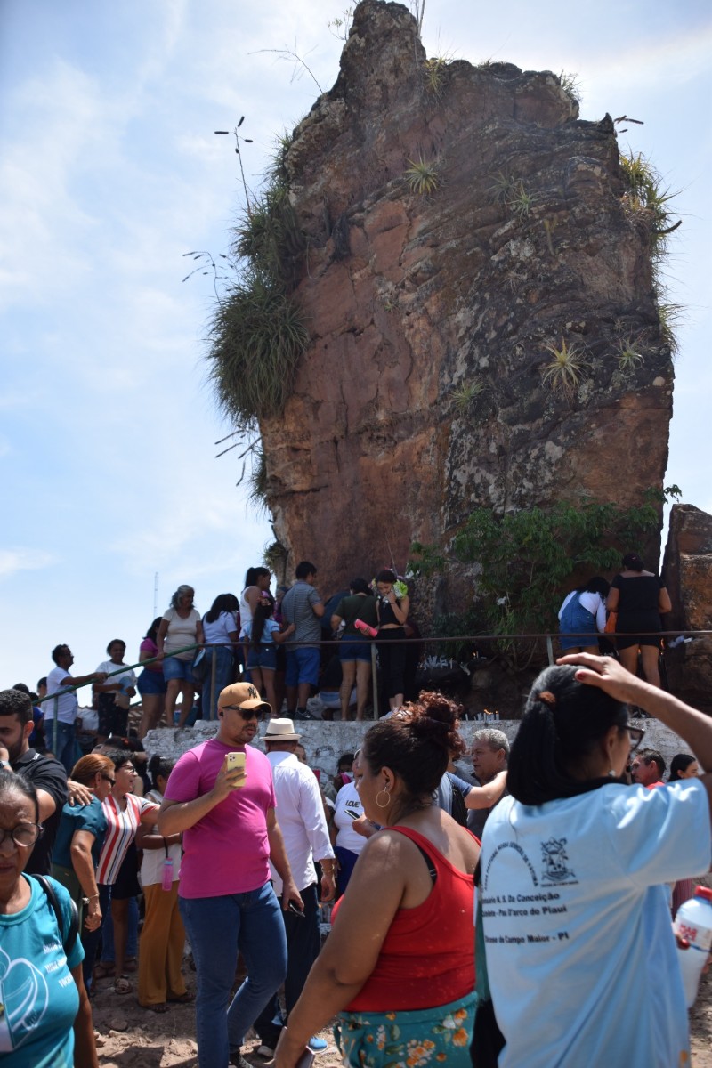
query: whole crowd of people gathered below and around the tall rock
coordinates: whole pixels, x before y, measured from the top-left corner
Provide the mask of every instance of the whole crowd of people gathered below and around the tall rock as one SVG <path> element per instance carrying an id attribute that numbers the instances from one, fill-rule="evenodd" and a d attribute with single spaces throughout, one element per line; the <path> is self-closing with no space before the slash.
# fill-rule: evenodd
<path id="1" fill-rule="evenodd" d="M 101 981 L 116 999 L 130 994 L 137 969 L 147 1011 L 195 999 L 200 1068 L 248 1068 L 246 1054 L 298 1068 L 326 1047 L 317 1032 L 332 1020 L 353 1068 L 689 1063 L 671 922 L 712 860 L 712 775 L 700 770 L 712 768 L 709 718 L 661 689 L 645 663 L 638 678 L 629 670 L 637 664 L 584 647 L 535 680 L 511 744 L 496 727 L 475 731 L 473 782 L 456 765 L 463 709 L 439 692 L 407 701 L 396 651 L 382 666 L 389 712 L 325 776 L 310 768 L 299 734 L 326 611 L 316 569 L 300 565 L 280 621 L 264 571 L 249 575 L 237 608 L 236 598 L 218 598 L 203 618 L 192 590 L 180 587 L 170 618 L 145 639 L 153 663 L 138 678 L 124 643 L 109 643 L 109 660 L 80 676 L 97 705 L 95 744 L 83 755 L 59 729 L 73 711 L 62 705 L 68 680 L 77 681 L 66 646 L 52 654 L 47 690 L 59 698 L 56 722 L 44 723 L 61 760 L 31 745 L 43 724 L 27 688 L 0 691 L 0 1053 L 9 1068 L 97 1065 L 92 994 Z M 408 595 L 397 582 L 381 572 L 370 593 L 354 581 L 333 604 L 357 701 L 362 639 L 402 632 Z M 565 629 L 585 635 L 589 619 L 575 613 L 602 619 L 604 599 L 620 617 L 619 586 L 614 580 L 618 601 L 598 580 L 574 592 Z M 634 603 L 642 612 L 638 588 Z M 158 675 L 154 664 L 163 665 L 165 694 L 171 681 L 175 698 L 195 687 L 185 668 L 167 678 L 164 665 L 189 653 L 179 663 L 192 669 L 208 627 L 225 684 L 216 734 L 175 764 L 147 760 L 139 739 L 115 733 L 127 712 L 116 697 L 142 692 L 145 673 Z M 645 634 L 640 615 L 623 627 Z M 235 680 L 240 644 L 255 675 Z M 286 716 L 259 689 L 278 694 L 265 675 L 276 673 L 282 648 Z M 629 706 L 689 747 L 667 780 Z M 149 702 L 148 719 L 156 714 Z M 322 945 L 321 906 L 334 899 Z M 183 969 L 186 939 L 195 994 Z"/>

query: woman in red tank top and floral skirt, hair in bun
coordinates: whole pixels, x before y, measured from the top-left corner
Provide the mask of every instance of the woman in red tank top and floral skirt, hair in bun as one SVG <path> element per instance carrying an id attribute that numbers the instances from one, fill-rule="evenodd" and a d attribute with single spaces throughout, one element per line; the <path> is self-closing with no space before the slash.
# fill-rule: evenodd
<path id="1" fill-rule="evenodd" d="M 368 839 L 333 929 L 282 1032 L 275 1066 L 294 1068 L 339 1014 L 344 1064 L 469 1068 L 475 1009 L 477 839 L 433 803 L 457 734 L 442 694 L 366 734 L 354 782 Z"/>

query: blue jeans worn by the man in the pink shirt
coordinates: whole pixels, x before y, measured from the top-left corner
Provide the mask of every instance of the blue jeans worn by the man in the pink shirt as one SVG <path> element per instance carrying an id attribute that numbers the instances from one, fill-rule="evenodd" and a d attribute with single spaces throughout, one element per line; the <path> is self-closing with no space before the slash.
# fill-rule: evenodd
<path id="1" fill-rule="evenodd" d="M 227 1068 L 230 1050 L 242 1046 L 287 973 L 280 904 L 266 882 L 246 894 L 181 897 L 179 907 L 197 974 L 197 1063 L 200 1068 Z M 238 951 L 248 976 L 228 1007 Z"/>

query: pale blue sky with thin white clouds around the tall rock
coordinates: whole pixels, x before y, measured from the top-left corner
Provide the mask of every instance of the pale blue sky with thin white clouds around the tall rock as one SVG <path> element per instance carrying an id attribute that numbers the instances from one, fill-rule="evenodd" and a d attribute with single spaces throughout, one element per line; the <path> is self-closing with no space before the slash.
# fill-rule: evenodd
<path id="1" fill-rule="evenodd" d="M 246 178 L 338 72 L 333 0 L 0 2 L 0 688 L 141 638 L 183 582 L 207 611 L 272 540 L 236 487 L 206 381 L 211 279 Z M 505 14 L 503 14 L 503 12 Z M 666 483 L 712 512 L 712 15 L 707 0 L 427 0 L 428 56 L 576 74 L 581 117 L 642 120 L 621 150 L 679 190 Z M 661 428 L 664 433 L 664 428 Z M 630 462 L 635 462 L 631 442 Z M 620 457 L 610 462 L 619 465 Z M 157 585 L 157 590 L 156 590 Z M 325 595 L 329 591 L 323 591 Z"/>

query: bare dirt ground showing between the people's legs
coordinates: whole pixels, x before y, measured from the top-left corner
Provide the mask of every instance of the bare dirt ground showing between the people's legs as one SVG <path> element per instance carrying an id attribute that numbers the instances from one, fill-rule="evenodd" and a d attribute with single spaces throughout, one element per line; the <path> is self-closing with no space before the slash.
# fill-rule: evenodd
<path id="1" fill-rule="evenodd" d="M 189 972 L 188 986 L 195 989 L 195 974 Z M 133 984 L 136 986 L 136 983 Z M 117 996 L 108 980 L 99 984 L 93 1002 L 97 1049 L 102 1068 L 195 1068 L 194 1007 L 172 1005 L 157 1016 L 141 1008 L 135 994 Z M 702 977 L 697 1004 L 691 1016 L 694 1068 L 712 1068 L 712 973 Z M 315 1068 L 339 1068 L 342 1061 L 331 1030 L 319 1033 L 329 1049 L 319 1054 Z M 258 1057 L 257 1040 L 248 1041 L 243 1053 L 253 1065 L 271 1065 Z"/>

